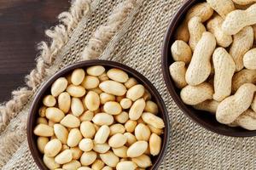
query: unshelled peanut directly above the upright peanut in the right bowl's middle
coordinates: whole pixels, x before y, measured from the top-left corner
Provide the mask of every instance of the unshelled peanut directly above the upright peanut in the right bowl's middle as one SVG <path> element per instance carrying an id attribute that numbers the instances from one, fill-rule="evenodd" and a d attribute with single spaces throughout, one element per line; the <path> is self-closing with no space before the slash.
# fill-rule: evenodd
<path id="1" fill-rule="evenodd" d="M 207 22 L 207 31 L 212 32 L 219 46 L 227 48 L 233 42 L 233 38 L 222 31 L 221 26 L 223 21 L 224 20 L 221 18 L 221 16 L 218 14 L 214 15 L 214 17 Z"/>

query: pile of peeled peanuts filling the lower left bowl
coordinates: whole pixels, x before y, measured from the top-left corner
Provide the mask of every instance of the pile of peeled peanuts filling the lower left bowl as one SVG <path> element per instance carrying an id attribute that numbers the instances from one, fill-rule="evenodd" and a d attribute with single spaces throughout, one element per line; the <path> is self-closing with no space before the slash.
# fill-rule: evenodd
<path id="1" fill-rule="evenodd" d="M 33 133 L 49 169 L 140 170 L 160 154 L 158 113 L 135 78 L 93 65 L 55 80 Z"/>

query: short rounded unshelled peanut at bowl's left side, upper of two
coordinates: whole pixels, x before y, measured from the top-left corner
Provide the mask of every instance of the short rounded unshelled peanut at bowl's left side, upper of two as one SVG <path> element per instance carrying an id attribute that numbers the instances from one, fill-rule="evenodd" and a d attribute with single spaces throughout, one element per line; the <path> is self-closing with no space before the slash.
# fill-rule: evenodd
<path id="1" fill-rule="evenodd" d="M 186 64 L 189 64 L 192 58 L 192 50 L 187 44 L 182 40 L 176 40 L 172 43 L 171 47 L 172 59 L 175 61 L 183 61 Z"/>

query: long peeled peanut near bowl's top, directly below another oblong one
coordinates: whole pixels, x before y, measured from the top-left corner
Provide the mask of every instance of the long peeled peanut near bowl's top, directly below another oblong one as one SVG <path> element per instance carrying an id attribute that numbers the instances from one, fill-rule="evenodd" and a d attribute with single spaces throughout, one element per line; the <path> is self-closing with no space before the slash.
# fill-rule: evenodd
<path id="1" fill-rule="evenodd" d="M 126 88 L 123 84 L 111 80 L 101 82 L 99 88 L 101 88 L 105 93 L 113 94 L 116 96 L 122 96 L 126 93 Z"/>

